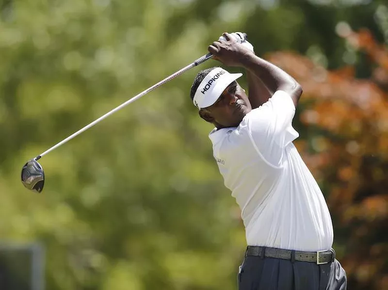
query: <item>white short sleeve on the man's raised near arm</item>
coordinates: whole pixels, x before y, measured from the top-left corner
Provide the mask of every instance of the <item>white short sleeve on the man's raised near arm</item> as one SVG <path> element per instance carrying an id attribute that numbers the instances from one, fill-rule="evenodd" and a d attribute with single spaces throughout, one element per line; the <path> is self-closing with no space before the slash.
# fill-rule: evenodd
<path id="1" fill-rule="evenodd" d="M 299 137 L 292 127 L 295 106 L 291 96 L 277 91 L 246 115 L 247 130 L 258 153 L 274 166 L 281 165 L 285 147 Z"/>

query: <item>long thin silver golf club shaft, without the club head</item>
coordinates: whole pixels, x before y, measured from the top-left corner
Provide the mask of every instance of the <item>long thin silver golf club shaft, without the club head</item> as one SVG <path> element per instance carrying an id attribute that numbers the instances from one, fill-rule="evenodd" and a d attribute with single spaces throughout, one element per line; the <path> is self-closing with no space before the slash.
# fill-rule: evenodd
<path id="1" fill-rule="evenodd" d="M 91 122 L 90 124 L 86 125 L 85 127 L 83 127 L 82 129 L 78 130 L 77 132 L 75 132 L 74 134 L 70 135 L 69 137 L 65 138 L 64 140 L 62 140 L 61 142 L 59 142 L 58 144 L 52 146 L 50 149 L 46 150 L 45 152 L 41 153 L 40 155 L 38 155 L 37 157 L 35 157 L 34 159 L 35 160 L 38 160 L 40 159 L 41 157 L 43 157 L 44 155 L 46 155 L 47 153 L 53 151 L 54 149 L 58 148 L 59 146 L 65 144 L 67 141 L 73 139 L 74 137 L 80 135 L 82 132 L 86 131 L 87 129 L 89 129 L 90 127 L 93 127 L 94 125 L 96 125 L 98 122 L 104 120 L 106 117 L 112 115 L 114 112 L 117 112 L 118 110 L 120 110 L 121 108 L 129 105 L 130 103 L 136 101 L 137 99 L 141 98 L 142 96 L 144 96 L 145 94 L 147 94 L 148 92 L 151 92 L 153 90 L 155 90 L 156 88 L 162 86 L 163 84 L 165 84 L 166 82 L 172 80 L 173 78 L 183 74 L 184 72 L 188 71 L 189 69 L 193 68 L 194 66 L 197 66 L 198 64 L 204 62 L 204 61 L 207 61 L 209 60 L 210 58 L 212 57 L 212 54 L 211 53 L 208 53 L 208 54 L 205 54 L 204 56 L 200 57 L 199 59 L 195 60 L 194 62 L 190 63 L 189 65 L 185 66 L 184 68 L 178 70 L 176 73 L 172 74 L 171 76 L 167 76 L 166 78 L 164 78 L 163 80 L 161 80 L 160 82 L 156 83 L 155 85 L 153 85 L 152 87 L 146 89 L 145 91 L 139 93 L 138 95 L 134 96 L 133 98 L 129 99 L 127 102 L 121 104 L 120 106 L 118 107 L 115 107 L 113 110 L 109 111 L 108 113 L 106 113 L 105 115 L 99 117 L 97 120 Z"/>

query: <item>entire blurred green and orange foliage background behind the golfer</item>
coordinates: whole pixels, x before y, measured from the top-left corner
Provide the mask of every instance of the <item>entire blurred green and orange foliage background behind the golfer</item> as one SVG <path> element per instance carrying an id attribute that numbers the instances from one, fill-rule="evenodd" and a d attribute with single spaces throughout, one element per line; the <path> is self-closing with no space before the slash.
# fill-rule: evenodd
<path id="1" fill-rule="evenodd" d="M 224 31 L 302 84 L 295 144 L 348 289 L 388 289 L 386 0 L 0 0 L 1 290 L 237 289 L 240 211 L 189 96 L 217 61 L 42 158 L 42 194 L 20 182 L 27 160 Z"/>

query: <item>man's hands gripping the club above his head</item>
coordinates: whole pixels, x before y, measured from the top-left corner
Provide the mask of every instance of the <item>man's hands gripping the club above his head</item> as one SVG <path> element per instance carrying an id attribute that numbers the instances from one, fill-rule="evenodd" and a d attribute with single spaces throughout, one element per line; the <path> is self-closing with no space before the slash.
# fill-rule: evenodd
<path id="1" fill-rule="evenodd" d="M 225 40 L 213 42 L 208 47 L 209 52 L 213 55 L 213 59 L 221 61 L 226 66 L 242 66 L 242 61 L 254 55 L 254 52 L 243 46 L 230 33 L 223 33 Z"/>

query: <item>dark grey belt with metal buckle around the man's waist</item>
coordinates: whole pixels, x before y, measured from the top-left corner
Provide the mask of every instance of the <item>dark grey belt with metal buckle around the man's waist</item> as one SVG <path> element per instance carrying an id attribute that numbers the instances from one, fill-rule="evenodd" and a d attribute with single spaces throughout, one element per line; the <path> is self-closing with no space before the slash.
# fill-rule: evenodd
<path id="1" fill-rule="evenodd" d="M 270 247 L 248 246 L 246 248 L 245 256 L 313 262 L 320 265 L 333 262 L 334 259 L 336 259 L 336 252 L 333 249 L 316 252 L 301 252 Z"/>

